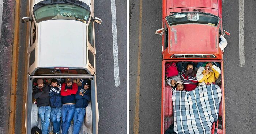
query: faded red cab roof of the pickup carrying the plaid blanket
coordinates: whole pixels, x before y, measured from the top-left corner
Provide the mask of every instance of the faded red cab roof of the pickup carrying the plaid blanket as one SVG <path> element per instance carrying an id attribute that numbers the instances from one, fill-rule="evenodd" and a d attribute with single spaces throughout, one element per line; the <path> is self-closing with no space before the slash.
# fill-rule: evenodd
<path id="1" fill-rule="evenodd" d="M 169 27 L 169 51 L 184 54 L 218 53 L 218 28 L 205 24 Z"/>

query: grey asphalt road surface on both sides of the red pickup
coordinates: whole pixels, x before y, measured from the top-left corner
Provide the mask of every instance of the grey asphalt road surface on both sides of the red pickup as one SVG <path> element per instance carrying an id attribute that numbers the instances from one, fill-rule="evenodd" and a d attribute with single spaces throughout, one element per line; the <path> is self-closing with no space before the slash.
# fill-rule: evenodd
<path id="1" fill-rule="evenodd" d="M 139 1 L 130 0 L 130 133 L 134 133 L 138 68 Z M 245 65 L 239 66 L 238 1 L 222 0 L 223 29 L 231 33 L 224 52 L 226 134 L 256 131 L 256 1 L 244 2 Z M 142 1 L 139 134 L 159 134 L 161 125 L 162 3 Z"/>

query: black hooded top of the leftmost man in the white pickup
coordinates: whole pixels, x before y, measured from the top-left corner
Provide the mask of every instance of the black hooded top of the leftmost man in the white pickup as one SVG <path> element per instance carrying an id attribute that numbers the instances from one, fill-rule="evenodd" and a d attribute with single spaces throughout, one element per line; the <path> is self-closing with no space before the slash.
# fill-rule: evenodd
<path id="1" fill-rule="evenodd" d="M 50 106 L 50 97 L 49 97 L 49 86 L 44 84 L 42 88 L 34 86 L 33 89 L 33 98 L 36 99 L 37 107 L 41 106 Z"/>

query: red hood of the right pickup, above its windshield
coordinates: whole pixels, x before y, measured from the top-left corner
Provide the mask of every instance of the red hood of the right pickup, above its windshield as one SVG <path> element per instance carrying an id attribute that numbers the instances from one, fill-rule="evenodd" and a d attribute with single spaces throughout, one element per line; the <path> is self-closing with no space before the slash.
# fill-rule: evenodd
<path id="1" fill-rule="evenodd" d="M 167 0 L 167 9 L 200 7 L 218 9 L 218 0 Z"/>

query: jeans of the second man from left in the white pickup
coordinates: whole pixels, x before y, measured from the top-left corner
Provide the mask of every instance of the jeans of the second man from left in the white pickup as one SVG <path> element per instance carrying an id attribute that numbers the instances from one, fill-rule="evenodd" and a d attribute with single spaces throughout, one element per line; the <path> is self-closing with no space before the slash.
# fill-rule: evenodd
<path id="1" fill-rule="evenodd" d="M 60 117 L 61 109 L 60 107 L 54 107 L 51 109 L 51 122 L 53 126 L 53 133 L 60 134 Z"/>

